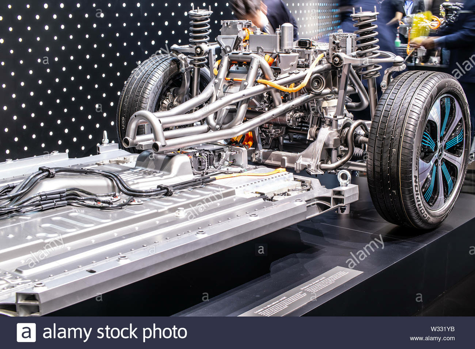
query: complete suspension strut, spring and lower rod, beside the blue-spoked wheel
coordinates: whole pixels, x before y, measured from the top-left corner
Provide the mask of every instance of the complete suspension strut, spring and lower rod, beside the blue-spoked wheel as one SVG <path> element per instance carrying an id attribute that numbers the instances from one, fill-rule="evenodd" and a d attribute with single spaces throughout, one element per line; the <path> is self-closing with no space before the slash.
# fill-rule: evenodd
<path id="1" fill-rule="evenodd" d="M 350 15 L 351 18 L 356 21 L 353 24 L 357 28 L 355 34 L 357 35 L 357 51 L 356 55 L 359 58 L 374 59 L 379 56 L 379 39 L 377 38 L 377 25 L 374 24 L 377 20 L 377 15 L 379 13 L 376 11 L 376 6 L 374 12 L 361 11 L 355 13 L 355 8 L 353 8 L 353 14 Z M 379 70 L 381 65 L 374 63 L 363 63 L 358 65 L 358 74 L 360 74 L 361 79 L 368 80 L 368 95 L 371 109 L 371 118 L 376 111 L 377 105 L 377 91 L 376 91 L 376 78 L 380 76 Z"/>

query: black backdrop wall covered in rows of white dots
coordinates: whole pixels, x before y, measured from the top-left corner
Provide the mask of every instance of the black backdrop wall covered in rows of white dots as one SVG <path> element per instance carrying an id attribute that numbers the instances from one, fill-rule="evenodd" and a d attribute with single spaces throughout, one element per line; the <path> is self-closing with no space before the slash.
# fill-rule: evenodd
<path id="1" fill-rule="evenodd" d="M 9 0 L 0 4 L 0 161 L 58 150 L 96 153 L 138 62 L 188 42 L 191 1 Z M 287 2 L 301 37 L 338 28 L 337 2 Z M 232 18 L 211 5 L 212 35 Z"/>

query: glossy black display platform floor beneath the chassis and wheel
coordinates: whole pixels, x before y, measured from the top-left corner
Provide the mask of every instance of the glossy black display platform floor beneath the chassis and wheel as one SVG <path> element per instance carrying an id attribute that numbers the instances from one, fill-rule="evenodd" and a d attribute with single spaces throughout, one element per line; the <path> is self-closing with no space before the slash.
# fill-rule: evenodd
<path id="1" fill-rule="evenodd" d="M 336 186 L 336 176 L 319 176 Z M 346 215 L 328 212 L 51 315 L 238 316 L 295 286 L 348 267 L 369 242 L 363 273 L 290 315 L 410 316 L 475 270 L 475 196 L 461 194 L 430 232 L 400 228 L 376 212 L 365 177 Z M 260 246 L 265 254 L 257 253 Z"/>

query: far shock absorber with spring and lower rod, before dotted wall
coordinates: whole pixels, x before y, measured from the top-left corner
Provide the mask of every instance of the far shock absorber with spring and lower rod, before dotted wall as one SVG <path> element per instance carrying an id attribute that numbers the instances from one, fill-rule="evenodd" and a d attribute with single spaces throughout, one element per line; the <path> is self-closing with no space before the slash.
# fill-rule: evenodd
<path id="1" fill-rule="evenodd" d="M 199 71 L 206 66 L 206 51 L 202 45 L 208 45 L 210 40 L 210 17 L 213 14 L 211 6 L 208 10 L 199 9 L 188 12 L 190 16 L 190 44 L 189 46 L 195 48 L 195 53 L 190 57 L 190 64 L 193 65 L 193 97 L 199 92 Z"/>

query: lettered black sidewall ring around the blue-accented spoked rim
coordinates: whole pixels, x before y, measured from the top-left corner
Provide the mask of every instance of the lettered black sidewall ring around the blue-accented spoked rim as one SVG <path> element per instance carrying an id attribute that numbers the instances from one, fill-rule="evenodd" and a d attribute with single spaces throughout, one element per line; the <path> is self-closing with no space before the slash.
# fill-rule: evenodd
<path id="1" fill-rule="evenodd" d="M 419 181 L 419 159 L 421 156 L 421 149 L 422 149 L 422 137 L 424 134 L 424 128 L 426 126 L 426 122 L 428 119 L 429 112 L 437 99 L 442 95 L 451 95 L 454 97 L 458 102 L 459 106 L 462 108 L 463 118 L 465 119 L 465 134 L 464 134 L 464 146 L 465 146 L 465 153 L 464 153 L 464 160 L 462 163 L 462 168 L 459 173 L 459 177 L 457 179 L 457 185 L 455 190 L 451 193 L 449 198 L 449 204 L 445 204 L 441 209 L 437 211 L 432 211 L 426 205 L 426 202 L 422 195 L 421 184 Z M 461 190 L 463 184 L 463 178 L 465 176 L 465 172 L 467 170 L 467 160 L 469 156 L 469 152 L 467 149 L 470 148 L 470 117 L 468 116 L 468 103 L 467 99 L 463 93 L 463 90 L 457 80 L 447 76 L 446 79 L 443 79 L 437 83 L 437 85 L 432 88 L 431 94 L 429 98 L 427 98 L 426 103 L 424 105 L 423 112 L 421 113 L 421 117 L 419 118 L 419 122 L 416 128 L 416 135 L 414 137 L 414 151 L 412 152 L 412 190 L 414 195 L 414 201 L 416 205 L 416 209 L 420 215 L 420 217 L 426 222 L 426 224 L 430 226 L 435 226 L 440 224 L 445 217 L 450 213 L 452 208 L 455 205 L 459 197 L 459 192 Z M 467 122 L 468 121 L 468 122 Z"/>

